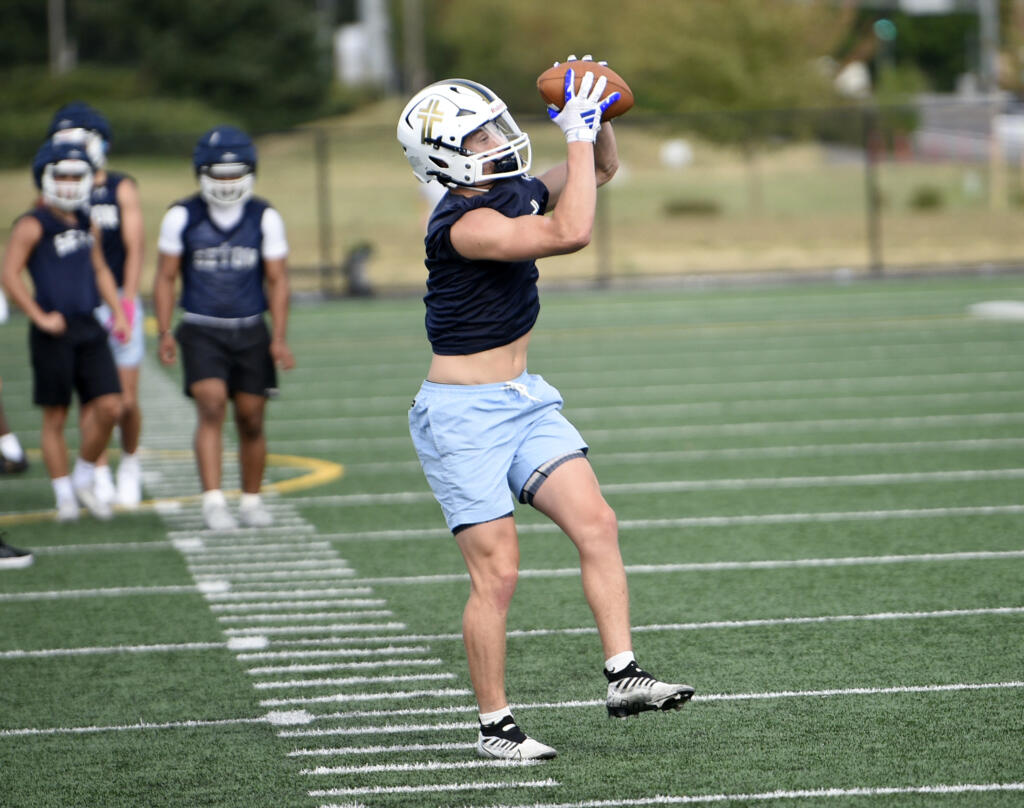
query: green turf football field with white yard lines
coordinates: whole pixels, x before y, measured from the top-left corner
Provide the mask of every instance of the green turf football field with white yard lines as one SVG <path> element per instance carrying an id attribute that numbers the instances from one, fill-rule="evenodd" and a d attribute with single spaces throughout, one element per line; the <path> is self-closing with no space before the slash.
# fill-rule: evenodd
<path id="1" fill-rule="evenodd" d="M 559 757 L 475 757 L 467 581 L 406 412 L 415 299 L 297 305 L 273 528 L 201 529 L 193 414 L 143 372 L 145 510 L 52 521 L 0 477 L 0 806 L 1024 802 L 1024 277 L 548 293 L 530 370 L 620 521 L 641 664 L 606 718 L 574 551 L 528 509 L 509 694 Z M 151 350 L 152 350 L 151 345 Z M 3 402 L 38 449 L 25 321 Z M 237 484 L 233 463 L 226 486 Z"/>

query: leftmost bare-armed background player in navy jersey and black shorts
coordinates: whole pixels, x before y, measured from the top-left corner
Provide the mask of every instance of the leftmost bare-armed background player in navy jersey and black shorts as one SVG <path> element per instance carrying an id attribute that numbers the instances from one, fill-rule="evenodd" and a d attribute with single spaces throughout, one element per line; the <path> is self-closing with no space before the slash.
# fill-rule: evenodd
<path id="1" fill-rule="evenodd" d="M 128 323 L 114 277 L 103 260 L 98 233 L 85 212 L 92 165 L 73 143 L 47 140 L 32 166 L 41 190 L 37 206 L 14 222 L 3 257 L 3 286 L 32 322 L 33 399 L 43 410 L 43 462 L 56 497 L 57 518 L 78 518 L 78 503 L 110 518 L 109 503 L 95 492 L 95 462 L 121 417 L 121 386 L 106 331 L 93 309 L 100 298 L 114 314 L 114 332 L 127 338 Z M 35 298 L 22 273 L 28 269 Z M 88 407 L 75 469 L 68 474 L 65 424 L 72 393 Z"/>

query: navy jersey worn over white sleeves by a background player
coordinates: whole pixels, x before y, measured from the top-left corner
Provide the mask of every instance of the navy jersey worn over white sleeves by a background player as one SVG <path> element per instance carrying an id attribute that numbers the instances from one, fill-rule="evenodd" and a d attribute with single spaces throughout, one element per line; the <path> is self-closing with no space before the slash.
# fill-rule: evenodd
<path id="1" fill-rule="evenodd" d="M 266 311 L 261 220 L 269 204 L 251 198 L 239 223 L 229 230 L 213 222 L 199 194 L 175 205 L 188 214 L 181 232 L 181 307 L 214 317 L 248 317 Z"/>

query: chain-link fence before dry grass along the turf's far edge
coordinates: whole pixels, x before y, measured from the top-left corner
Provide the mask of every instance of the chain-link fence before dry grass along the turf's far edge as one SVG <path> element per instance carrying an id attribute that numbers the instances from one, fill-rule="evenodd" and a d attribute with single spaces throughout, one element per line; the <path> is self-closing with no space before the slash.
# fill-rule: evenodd
<path id="1" fill-rule="evenodd" d="M 258 139 L 257 194 L 285 217 L 296 289 L 422 288 L 434 196 L 401 155 L 396 116 L 397 108 L 385 109 L 379 124 Z M 622 168 L 599 195 L 593 243 L 543 260 L 542 281 L 1024 266 L 1024 125 L 1019 133 L 1017 122 L 987 102 L 939 99 L 899 109 L 626 116 L 615 124 Z M 540 118 L 519 123 L 532 139 L 532 173 L 564 159 L 556 127 Z M 716 130 L 730 133 L 729 145 L 694 134 Z M 112 167 L 139 181 L 152 252 L 163 211 L 195 190 L 190 153 L 190 137 L 117 142 Z M 31 179 L 27 170 L 3 172 L 0 185 L 9 192 L 0 195 L 7 208 L 0 221 L 10 222 L 28 207 Z M 16 185 L 24 193 L 13 193 Z"/>

